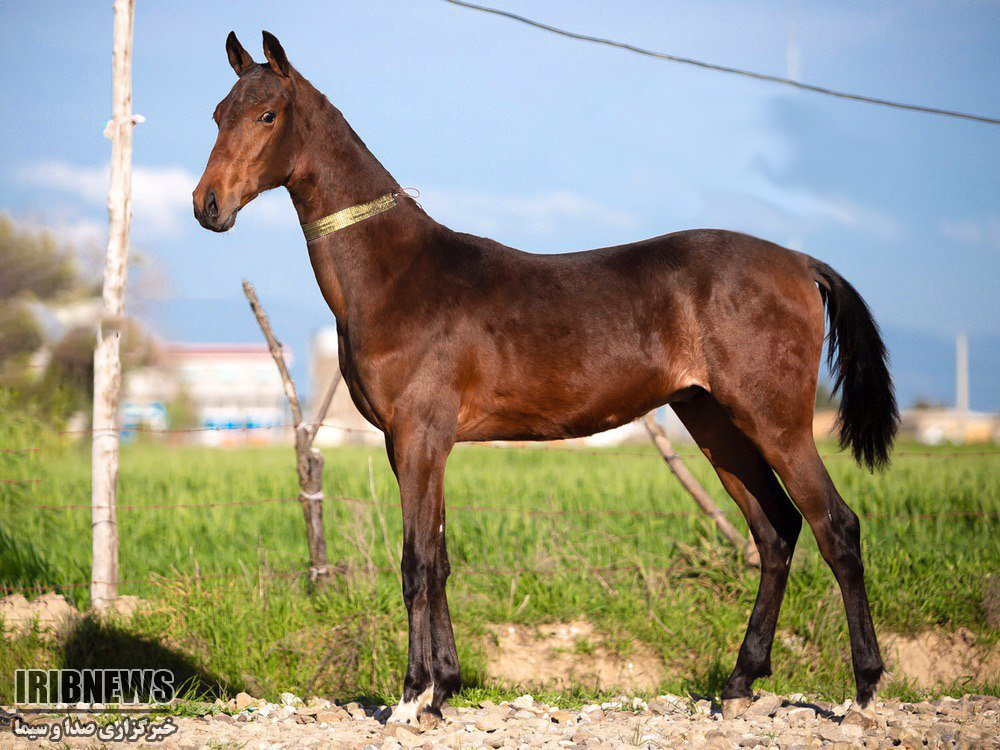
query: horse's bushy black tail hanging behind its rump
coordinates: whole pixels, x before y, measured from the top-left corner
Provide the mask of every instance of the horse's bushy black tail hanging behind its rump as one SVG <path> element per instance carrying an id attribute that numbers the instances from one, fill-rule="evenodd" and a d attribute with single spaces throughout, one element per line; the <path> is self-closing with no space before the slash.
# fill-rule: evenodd
<path id="1" fill-rule="evenodd" d="M 830 319 L 827 362 L 840 391 L 840 447 L 869 469 L 885 466 L 899 427 L 889 354 L 868 305 L 844 278 L 815 258 L 810 266 Z"/>

